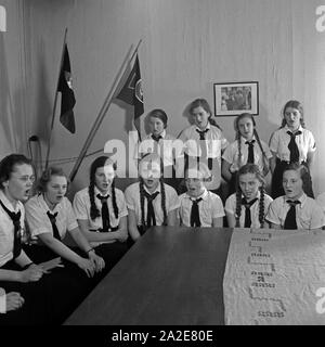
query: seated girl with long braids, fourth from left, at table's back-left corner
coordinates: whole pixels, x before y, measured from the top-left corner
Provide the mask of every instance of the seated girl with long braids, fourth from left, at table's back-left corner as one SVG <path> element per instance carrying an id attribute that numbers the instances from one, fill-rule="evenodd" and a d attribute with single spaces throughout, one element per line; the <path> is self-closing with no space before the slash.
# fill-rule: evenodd
<path id="1" fill-rule="evenodd" d="M 176 190 L 164 183 L 162 163 L 155 154 L 145 155 L 139 163 L 140 181 L 126 191 L 129 233 L 133 242 L 152 226 L 177 226 L 179 196 Z"/>

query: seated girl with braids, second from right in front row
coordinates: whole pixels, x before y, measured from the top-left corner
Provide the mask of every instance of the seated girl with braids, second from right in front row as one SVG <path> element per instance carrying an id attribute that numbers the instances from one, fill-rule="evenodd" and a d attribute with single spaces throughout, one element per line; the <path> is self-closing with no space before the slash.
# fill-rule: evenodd
<path id="1" fill-rule="evenodd" d="M 272 197 L 264 192 L 264 177 L 255 164 L 242 166 L 237 174 L 236 193 L 225 202 L 230 228 L 269 228 L 265 215 Z"/>

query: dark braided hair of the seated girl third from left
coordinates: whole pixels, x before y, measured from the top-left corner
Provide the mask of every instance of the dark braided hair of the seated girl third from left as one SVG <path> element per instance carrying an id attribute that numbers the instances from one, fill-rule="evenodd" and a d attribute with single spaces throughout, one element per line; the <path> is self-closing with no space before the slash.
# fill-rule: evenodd
<path id="1" fill-rule="evenodd" d="M 96 219 L 98 217 L 101 217 L 101 213 L 95 204 L 95 194 L 94 194 L 94 188 L 95 188 L 95 174 L 98 168 L 104 167 L 106 165 L 112 165 L 114 170 L 116 170 L 116 163 L 113 162 L 108 156 L 100 156 L 95 158 L 91 166 L 90 166 L 90 183 L 88 187 L 88 193 L 90 198 L 90 218 L 92 220 Z M 113 180 L 112 185 L 112 203 L 113 203 L 113 210 L 115 218 L 118 218 L 118 206 L 116 203 L 116 191 L 115 191 L 115 180 Z"/>

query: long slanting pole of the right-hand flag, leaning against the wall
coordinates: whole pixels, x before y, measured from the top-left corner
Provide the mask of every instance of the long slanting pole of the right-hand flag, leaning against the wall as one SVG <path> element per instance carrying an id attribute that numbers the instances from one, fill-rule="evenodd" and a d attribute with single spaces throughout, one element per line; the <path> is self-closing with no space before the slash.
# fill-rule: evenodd
<path id="1" fill-rule="evenodd" d="M 99 113 L 99 115 L 98 115 L 98 117 L 96 117 L 96 119 L 95 119 L 95 121 L 94 121 L 89 134 L 88 134 L 88 138 L 87 138 L 82 149 L 81 149 L 81 152 L 80 152 L 80 154 L 78 156 L 78 159 L 77 159 L 77 162 L 76 162 L 76 164 L 75 164 L 75 166 L 74 166 L 74 168 L 73 168 L 73 170 L 72 170 L 72 172 L 69 175 L 69 180 L 72 182 L 74 181 L 74 179 L 75 179 L 75 177 L 77 175 L 77 171 L 78 171 L 78 169 L 79 169 L 79 167 L 81 165 L 81 162 L 83 160 L 83 158 L 84 158 L 84 156 L 87 154 L 87 151 L 88 151 L 88 149 L 89 149 L 89 146 L 90 146 L 95 133 L 98 132 L 98 130 L 99 130 L 99 128 L 100 128 L 100 126 L 101 126 L 101 124 L 102 124 L 102 121 L 103 121 L 103 119 L 104 119 L 104 117 L 106 115 L 106 112 L 107 112 L 108 107 L 110 106 L 112 100 L 114 98 L 114 93 L 116 91 L 116 88 L 120 83 L 121 77 L 123 76 L 123 73 L 126 70 L 126 66 L 127 66 L 127 64 L 132 62 L 134 55 L 138 52 L 138 49 L 139 49 L 139 46 L 141 44 L 141 42 L 142 42 L 142 39 L 139 41 L 139 43 L 138 43 L 138 46 L 136 46 L 136 48 L 135 48 L 135 50 L 134 50 L 134 52 L 133 52 L 133 54 L 131 55 L 130 59 L 128 59 L 129 53 L 127 54 L 126 59 L 123 60 L 119 70 L 118 70 L 118 73 L 117 73 L 117 75 L 116 75 L 116 77 L 114 79 L 114 82 L 113 82 L 113 85 L 112 85 L 112 87 L 109 89 L 109 92 L 108 92 L 108 94 L 107 94 L 107 97 L 106 97 L 106 99 L 105 99 L 105 101 L 103 103 L 103 106 L 100 110 L 100 113 Z"/>

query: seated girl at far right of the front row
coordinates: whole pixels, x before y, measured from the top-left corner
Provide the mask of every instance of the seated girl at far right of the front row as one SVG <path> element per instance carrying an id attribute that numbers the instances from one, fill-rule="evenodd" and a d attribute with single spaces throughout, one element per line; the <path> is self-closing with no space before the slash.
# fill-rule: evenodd
<path id="1" fill-rule="evenodd" d="M 304 193 L 309 184 L 309 170 L 304 165 L 292 163 L 284 168 L 285 194 L 275 198 L 266 216 L 272 229 L 320 229 L 325 219 L 322 207 Z"/>

